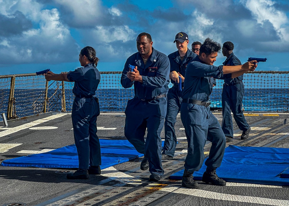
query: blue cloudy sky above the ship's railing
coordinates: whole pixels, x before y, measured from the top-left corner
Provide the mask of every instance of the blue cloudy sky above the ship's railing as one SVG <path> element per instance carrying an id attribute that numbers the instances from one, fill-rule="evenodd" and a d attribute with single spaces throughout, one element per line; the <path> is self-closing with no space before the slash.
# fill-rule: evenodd
<path id="1" fill-rule="evenodd" d="M 0 0 L 0 75 L 74 70 L 84 46 L 96 49 L 99 71 L 121 71 L 139 33 L 168 55 L 180 31 L 189 44 L 233 42 L 242 63 L 267 58 L 258 70 L 288 71 L 288 12 L 285 0 Z"/>

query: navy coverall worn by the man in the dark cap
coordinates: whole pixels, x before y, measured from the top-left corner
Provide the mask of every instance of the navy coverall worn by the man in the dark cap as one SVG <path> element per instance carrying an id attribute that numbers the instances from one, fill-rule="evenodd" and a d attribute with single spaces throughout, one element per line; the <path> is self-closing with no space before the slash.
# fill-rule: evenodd
<path id="1" fill-rule="evenodd" d="M 182 76 L 185 76 L 188 63 L 196 56 L 197 55 L 189 49 L 183 61 L 179 56 L 179 51 L 169 54 L 168 59 L 170 60 L 171 64 L 171 72 L 176 71 L 179 72 Z M 175 123 L 177 114 L 181 109 L 182 91 L 179 91 L 179 85 L 174 80 L 171 80 L 171 83 L 173 84 L 173 87 L 168 90 L 167 110 L 164 122 L 165 140 L 164 140 L 164 150 L 162 153 L 173 157 L 177 145 Z M 183 87 L 184 83 L 181 84 Z"/>

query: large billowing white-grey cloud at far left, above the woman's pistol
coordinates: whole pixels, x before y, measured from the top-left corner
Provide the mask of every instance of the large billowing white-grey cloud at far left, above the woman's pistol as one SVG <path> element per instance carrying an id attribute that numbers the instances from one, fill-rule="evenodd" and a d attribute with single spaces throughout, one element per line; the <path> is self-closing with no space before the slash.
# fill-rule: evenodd
<path id="1" fill-rule="evenodd" d="M 34 6 L 29 13 L 26 3 L 34 4 L 35 2 L 18 1 L 10 8 L 10 12 L 19 10 L 26 12 L 26 16 L 31 18 L 38 25 L 38 28 L 23 31 L 20 35 L 2 38 L 1 44 L 3 46 L 0 48 L 0 54 L 8 54 L 11 59 L 14 59 L 14 63 L 73 61 L 72 58 L 77 54 L 77 45 L 70 35 L 69 28 L 62 24 L 58 10 L 56 8 L 41 10 L 42 6 Z M 37 21 L 35 22 L 36 16 Z M 10 60 L 4 59 L 2 63 L 9 64 Z"/>

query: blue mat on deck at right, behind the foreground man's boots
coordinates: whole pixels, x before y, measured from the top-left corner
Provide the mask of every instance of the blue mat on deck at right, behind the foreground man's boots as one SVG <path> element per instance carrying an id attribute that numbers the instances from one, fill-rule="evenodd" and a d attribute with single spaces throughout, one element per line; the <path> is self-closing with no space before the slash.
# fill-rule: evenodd
<path id="1" fill-rule="evenodd" d="M 205 170 L 204 161 L 202 168 L 194 172 L 194 180 L 201 180 Z M 227 182 L 289 186 L 289 178 L 280 178 L 280 174 L 289 177 L 289 149 L 229 145 L 216 171 Z M 183 173 L 181 170 L 169 179 L 182 179 Z"/>

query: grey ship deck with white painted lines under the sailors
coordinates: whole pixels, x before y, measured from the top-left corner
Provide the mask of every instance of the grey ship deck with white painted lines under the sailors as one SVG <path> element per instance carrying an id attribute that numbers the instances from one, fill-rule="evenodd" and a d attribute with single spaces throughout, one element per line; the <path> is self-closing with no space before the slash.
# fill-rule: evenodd
<path id="1" fill-rule="evenodd" d="M 213 113 L 221 122 L 221 112 Z M 240 140 L 241 131 L 234 122 L 234 139 L 227 146 L 289 148 L 289 113 L 245 115 L 251 126 L 249 138 Z M 97 119 L 97 134 L 125 139 L 124 125 L 124 113 L 103 112 Z M 74 144 L 71 113 L 43 113 L 9 120 L 8 126 L 0 122 L 0 126 L 0 162 Z M 165 174 L 158 182 L 148 181 L 150 173 L 140 170 L 142 158 L 107 168 L 88 180 L 66 179 L 67 171 L 73 172 L 68 169 L 0 166 L 0 205 L 289 205 L 289 187 L 230 182 L 221 187 L 200 181 L 199 189 L 188 189 L 181 187 L 181 181 L 168 179 L 184 168 L 187 152 L 180 115 L 175 129 L 179 142 L 175 157 L 162 161 Z M 205 152 L 210 146 L 205 145 Z"/>

